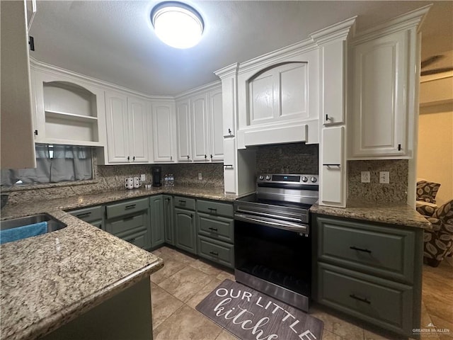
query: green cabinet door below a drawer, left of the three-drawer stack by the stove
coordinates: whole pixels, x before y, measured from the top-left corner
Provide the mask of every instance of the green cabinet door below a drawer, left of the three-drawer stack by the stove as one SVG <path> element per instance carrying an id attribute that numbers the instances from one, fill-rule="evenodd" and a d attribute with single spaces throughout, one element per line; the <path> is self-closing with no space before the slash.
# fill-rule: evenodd
<path id="1" fill-rule="evenodd" d="M 175 245 L 192 254 L 197 254 L 195 212 L 174 208 Z"/>

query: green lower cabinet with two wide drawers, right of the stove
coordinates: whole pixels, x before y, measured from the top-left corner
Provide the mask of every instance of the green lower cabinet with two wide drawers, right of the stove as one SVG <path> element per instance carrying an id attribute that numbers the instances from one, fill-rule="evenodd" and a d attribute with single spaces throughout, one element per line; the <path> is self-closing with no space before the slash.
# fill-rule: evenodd
<path id="1" fill-rule="evenodd" d="M 314 300 L 417 337 L 423 229 L 327 215 L 312 224 Z"/>

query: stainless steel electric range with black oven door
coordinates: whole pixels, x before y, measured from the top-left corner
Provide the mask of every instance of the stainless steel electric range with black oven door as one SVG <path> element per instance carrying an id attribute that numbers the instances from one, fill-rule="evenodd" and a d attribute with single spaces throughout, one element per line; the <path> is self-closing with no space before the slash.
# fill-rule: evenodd
<path id="1" fill-rule="evenodd" d="M 263 174 L 256 193 L 234 203 L 236 281 L 308 311 L 311 294 L 309 208 L 314 174 Z"/>

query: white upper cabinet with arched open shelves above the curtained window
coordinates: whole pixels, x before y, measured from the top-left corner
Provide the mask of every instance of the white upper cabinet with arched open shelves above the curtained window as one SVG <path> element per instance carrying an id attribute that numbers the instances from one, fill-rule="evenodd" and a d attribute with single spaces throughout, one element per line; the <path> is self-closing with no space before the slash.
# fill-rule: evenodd
<path id="1" fill-rule="evenodd" d="M 32 64 L 35 142 L 105 146 L 103 89 Z"/>

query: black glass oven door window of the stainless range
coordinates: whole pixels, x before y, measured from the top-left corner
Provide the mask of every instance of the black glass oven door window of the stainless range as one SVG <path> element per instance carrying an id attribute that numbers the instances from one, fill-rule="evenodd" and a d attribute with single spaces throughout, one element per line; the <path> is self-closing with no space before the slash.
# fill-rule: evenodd
<path id="1" fill-rule="evenodd" d="M 311 237 L 234 221 L 236 269 L 310 296 Z"/>

